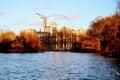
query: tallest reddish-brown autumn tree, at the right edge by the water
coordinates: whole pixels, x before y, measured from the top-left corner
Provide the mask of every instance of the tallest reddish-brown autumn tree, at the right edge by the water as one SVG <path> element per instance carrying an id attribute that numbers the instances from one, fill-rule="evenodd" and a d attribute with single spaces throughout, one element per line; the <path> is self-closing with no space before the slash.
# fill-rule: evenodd
<path id="1" fill-rule="evenodd" d="M 120 43 L 120 15 L 115 14 L 105 18 L 97 19 L 88 29 L 88 34 L 93 38 L 99 38 L 101 51 L 107 53 L 118 53 Z M 117 47 L 115 47 L 117 45 Z"/>

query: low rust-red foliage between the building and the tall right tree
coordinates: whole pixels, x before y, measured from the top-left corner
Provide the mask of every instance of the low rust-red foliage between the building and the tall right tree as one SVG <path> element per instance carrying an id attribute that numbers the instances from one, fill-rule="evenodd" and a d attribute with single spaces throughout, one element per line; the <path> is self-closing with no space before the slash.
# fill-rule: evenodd
<path id="1" fill-rule="evenodd" d="M 72 49 L 77 52 L 99 52 L 101 50 L 101 45 L 99 39 L 84 35 L 81 36 L 79 41 L 74 42 Z"/>

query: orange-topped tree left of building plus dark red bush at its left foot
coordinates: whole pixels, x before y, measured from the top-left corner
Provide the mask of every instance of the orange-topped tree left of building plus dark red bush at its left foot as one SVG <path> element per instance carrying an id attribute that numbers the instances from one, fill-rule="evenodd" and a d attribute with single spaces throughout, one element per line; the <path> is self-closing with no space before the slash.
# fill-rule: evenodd
<path id="1" fill-rule="evenodd" d="M 45 45 L 40 42 L 34 30 L 24 30 L 11 44 L 9 52 L 33 53 L 45 51 Z"/>

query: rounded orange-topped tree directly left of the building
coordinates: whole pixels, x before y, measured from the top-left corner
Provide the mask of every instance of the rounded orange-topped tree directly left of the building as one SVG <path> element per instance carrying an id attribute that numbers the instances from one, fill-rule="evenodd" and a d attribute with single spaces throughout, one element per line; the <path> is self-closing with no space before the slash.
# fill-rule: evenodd
<path id="1" fill-rule="evenodd" d="M 24 46 L 23 52 L 42 52 L 46 50 L 45 45 L 40 42 L 40 39 L 34 30 L 22 31 L 19 37 Z"/>

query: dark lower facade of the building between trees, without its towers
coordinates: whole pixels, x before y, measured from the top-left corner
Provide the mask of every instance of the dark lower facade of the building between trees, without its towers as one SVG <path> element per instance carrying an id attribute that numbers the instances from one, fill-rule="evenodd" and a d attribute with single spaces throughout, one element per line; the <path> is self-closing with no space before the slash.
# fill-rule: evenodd
<path id="1" fill-rule="evenodd" d="M 52 28 L 54 29 L 54 28 Z M 64 27 L 62 30 L 52 30 L 52 33 L 37 32 L 40 40 L 46 45 L 48 50 L 69 51 L 72 43 L 76 40 L 76 33 Z"/>

